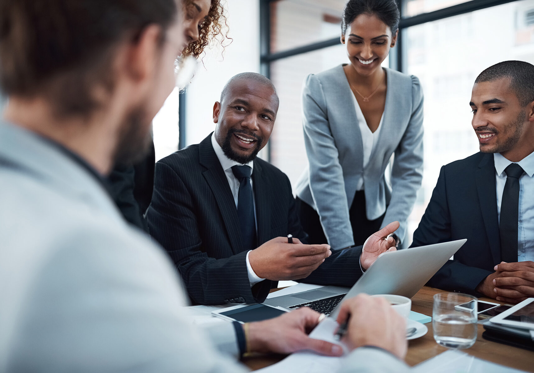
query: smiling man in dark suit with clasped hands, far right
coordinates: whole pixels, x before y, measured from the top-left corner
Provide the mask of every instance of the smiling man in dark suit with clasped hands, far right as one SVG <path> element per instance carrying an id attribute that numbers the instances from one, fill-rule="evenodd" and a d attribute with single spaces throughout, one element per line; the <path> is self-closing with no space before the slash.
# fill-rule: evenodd
<path id="1" fill-rule="evenodd" d="M 470 106 L 480 153 L 442 167 L 412 246 L 467 239 L 429 284 L 518 303 L 534 296 L 534 66 L 484 70 Z"/>

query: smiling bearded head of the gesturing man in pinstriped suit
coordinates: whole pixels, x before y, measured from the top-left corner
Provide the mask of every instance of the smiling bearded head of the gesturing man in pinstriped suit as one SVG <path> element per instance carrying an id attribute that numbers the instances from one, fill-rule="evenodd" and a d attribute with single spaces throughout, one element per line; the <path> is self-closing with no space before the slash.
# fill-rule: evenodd
<path id="1" fill-rule="evenodd" d="M 215 138 L 224 154 L 241 164 L 253 161 L 271 136 L 277 111 L 271 86 L 249 78 L 231 82 L 213 110 Z"/>

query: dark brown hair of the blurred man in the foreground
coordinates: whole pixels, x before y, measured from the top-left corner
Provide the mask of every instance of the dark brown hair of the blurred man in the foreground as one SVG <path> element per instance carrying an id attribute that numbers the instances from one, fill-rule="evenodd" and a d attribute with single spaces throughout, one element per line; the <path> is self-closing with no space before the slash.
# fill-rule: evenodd
<path id="1" fill-rule="evenodd" d="M 166 30 L 175 0 L 0 0 L 0 88 L 44 96 L 59 115 L 98 107 L 95 83 L 113 88 L 114 46 L 144 27 Z"/>

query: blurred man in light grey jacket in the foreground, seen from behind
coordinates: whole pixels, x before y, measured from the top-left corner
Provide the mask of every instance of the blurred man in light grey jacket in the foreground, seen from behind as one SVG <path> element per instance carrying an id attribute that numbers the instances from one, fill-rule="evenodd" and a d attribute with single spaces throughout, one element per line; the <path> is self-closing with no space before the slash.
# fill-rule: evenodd
<path id="1" fill-rule="evenodd" d="M 318 322 L 309 309 L 252 323 L 247 335 L 224 323 L 208 330 L 209 342 L 187 322 L 167 258 L 106 192 L 103 177 L 142 155 L 174 88 L 185 46 L 180 8 L 175 0 L 0 0 L 0 84 L 9 97 L 0 123 L 2 372 L 243 370 L 215 347 L 340 354 L 306 335 Z M 391 317 L 372 330 L 354 324 L 348 362 L 398 371 L 404 338 L 399 350 L 375 336 L 403 335 L 404 325 L 365 296 L 345 306 L 353 323 L 358 307 Z"/>

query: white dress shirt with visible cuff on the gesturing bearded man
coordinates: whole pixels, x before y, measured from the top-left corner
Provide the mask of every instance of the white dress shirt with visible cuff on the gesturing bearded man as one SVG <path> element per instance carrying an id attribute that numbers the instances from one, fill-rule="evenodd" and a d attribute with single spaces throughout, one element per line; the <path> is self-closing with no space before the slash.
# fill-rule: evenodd
<path id="1" fill-rule="evenodd" d="M 238 200 L 239 200 L 240 182 L 237 179 L 237 177 L 234 176 L 233 171 L 232 171 L 232 166 L 235 166 L 235 165 L 242 166 L 242 164 L 239 162 L 232 161 L 229 157 L 224 155 L 221 145 L 219 145 L 219 143 L 215 139 L 215 132 L 211 135 L 211 146 L 213 146 L 213 150 L 215 150 L 215 154 L 217 154 L 217 158 L 219 158 L 219 162 L 221 163 L 221 166 L 223 166 L 224 174 L 226 175 L 226 179 L 228 180 L 228 184 L 230 185 L 230 190 L 232 191 L 232 195 L 234 197 L 235 208 L 237 208 Z M 252 169 L 252 172 L 254 172 L 253 161 L 245 165 L 249 166 Z M 250 173 L 250 176 L 252 176 L 252 172 Z M 254 185 L 252 184 L 252 177 L 250 178 L 250 186 L 253 187 L 252 196 L 253 196 L 253 202 L 254 202 L 254 220 L 256 220 L 256 232 L 257 232 L 258 222 L 256 218 L 256 199 L 254 198 Z M 256 283 L 263 281 L 265 279 L 258 277 L 258 275 L 254 272 L 254 269 L 252 269 L 252 266 L 250 265 L 250 260 L 248 259 L 250 251 L 247 252 L 246 261 L 247 261 L 248 281 L 250 282 L 250 287 L 252 288 Z"/>

